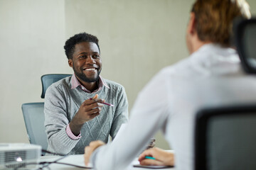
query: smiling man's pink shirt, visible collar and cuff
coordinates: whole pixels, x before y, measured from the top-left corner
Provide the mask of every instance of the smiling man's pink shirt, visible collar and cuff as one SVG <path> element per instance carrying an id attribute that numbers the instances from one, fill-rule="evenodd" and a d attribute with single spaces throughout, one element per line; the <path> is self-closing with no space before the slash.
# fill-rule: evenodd
<path id="1" fill-rule="evenodd" d="M 97 93 L 98 91 L 100 91 L 102 89 L 103 86 L 105 86 L 108 89 L 110 89 L 110 87 L 107 86 L 107 83 L 104 81 L 104 79 L 102 79 L 101 76 L 100 76 L 100 79 L 99 79 L 98 83 L 99 83 L 98 84 L 99 88 L 96 89 L 95 91 L 91 92 L 91 91 L 87 90 L 84 86 L 82 86 L 82 84 L 80 84 L 78 79 L 75 77 L 75 74 L 73 74 L 72 77 L 71 77 L 71 89 L 75 89 L 75 88 L 77 88 L 79 86 L 83 91 L 86 91 L 88 94 Z M 75 136 L 73 134 L 73 132 L 70 130 L 70 125 L 69 124 L 66 127 L 66 133 L 73 140 L 79 140 L 81 138 L 81 133 L 78 136 Z"/>

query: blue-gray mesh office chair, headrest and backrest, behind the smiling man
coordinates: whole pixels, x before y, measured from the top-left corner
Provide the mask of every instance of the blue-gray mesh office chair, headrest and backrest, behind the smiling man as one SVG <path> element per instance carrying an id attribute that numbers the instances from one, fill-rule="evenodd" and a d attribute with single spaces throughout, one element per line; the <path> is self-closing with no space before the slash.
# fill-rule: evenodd
<path id="1" fill-rule="evenodd" d="M 42 82 L 42 94 L 41 97 L 44 98 L 46 89 L 50 84 L 55 81 L 68 77 L 71 74 L 46 74 L 41 77 Z M 28 133 L 28 140 L 31 144 L 41 145 L 42 149 L 47 149 L 48 142 L 46 137 L 46 127 L 44 125 L 44 103 L 23 103 L 21 110 L 23 113 L 23 118 L 26 125 L 26 130 Z M 43 153 L 44 155 L 44 153 Z"/>

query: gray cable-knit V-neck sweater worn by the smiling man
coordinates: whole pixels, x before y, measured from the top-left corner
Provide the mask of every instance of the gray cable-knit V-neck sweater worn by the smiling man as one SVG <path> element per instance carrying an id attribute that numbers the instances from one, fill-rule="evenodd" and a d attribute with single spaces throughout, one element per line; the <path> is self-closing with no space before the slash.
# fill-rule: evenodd
<path id="1" fill-rule="evenodd" d="M 110 89 L 102 86 L 100 91 L 93 94 L 82 91 L 79 86 L 71 89 L 70 80 L 71 77 L 61 79 L 46 91 L 44 113 L 48 151 L 58 154 L 83 154 L 85 146 L 91 141 L 107 142 L 109 135 L 114 138 L 122 123 L 127 123 L 127 96 L 122 85 L 107 79 L 105 82 Z M 82 126 L 82 137 L 79 140 L 72 140 L 65 129 L 82 102 L 95 94 L 99 95 L 98 98 L 105 99 L 105 102 L 112 103 L 114 107 L 103 106 L 100 115 Z"/>

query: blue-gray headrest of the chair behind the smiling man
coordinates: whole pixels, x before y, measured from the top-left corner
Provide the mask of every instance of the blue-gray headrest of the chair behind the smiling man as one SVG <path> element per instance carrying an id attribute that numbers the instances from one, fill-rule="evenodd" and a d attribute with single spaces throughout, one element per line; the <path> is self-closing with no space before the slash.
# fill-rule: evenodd
<path id="1" fill-rule="evenodd" d="M 45 97 L 46 94 L 46 89 L 48 89 L 48 87 L 55 83 L 56 81 L 59 81 L 60 79 L 63 79 L 65 77 L 69 77 L 72 74 L 45 74 L 41 77 L 41 81 L 42 81 L 42 94 L 41 94 L 41 98 Z"/>

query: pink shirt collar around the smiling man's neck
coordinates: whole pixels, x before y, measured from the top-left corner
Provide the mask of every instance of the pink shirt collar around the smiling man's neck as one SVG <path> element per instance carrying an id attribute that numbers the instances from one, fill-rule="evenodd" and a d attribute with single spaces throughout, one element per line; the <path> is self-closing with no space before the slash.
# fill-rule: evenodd
<path id="1" fill-rule="evenodd" d="M 87 90 L 84 86 L 82 86 L 82 84 L 80 84 L 78 79 L 75 77 L 75 74 L 73 74 L 72 77 L 71 77 L 71 89 L 75 89 L 78 86 L 80 86 L 80 88 L 83 91 L 86 91 L 88 94 L 93 94 L 93 93 L 96 93 L 96 92 L 100 91 L 103 86 L 107 87 L 107 89 L 110 89 L 110 87 L 107 86 L 107 83 L 105 82 L 105 80 L 102 79 L 102 77 L 100 76 L 99 80 L 98 80 L 98 89 L 96 89 L 95 91 L 91 92 L 91 91 Z"/>

